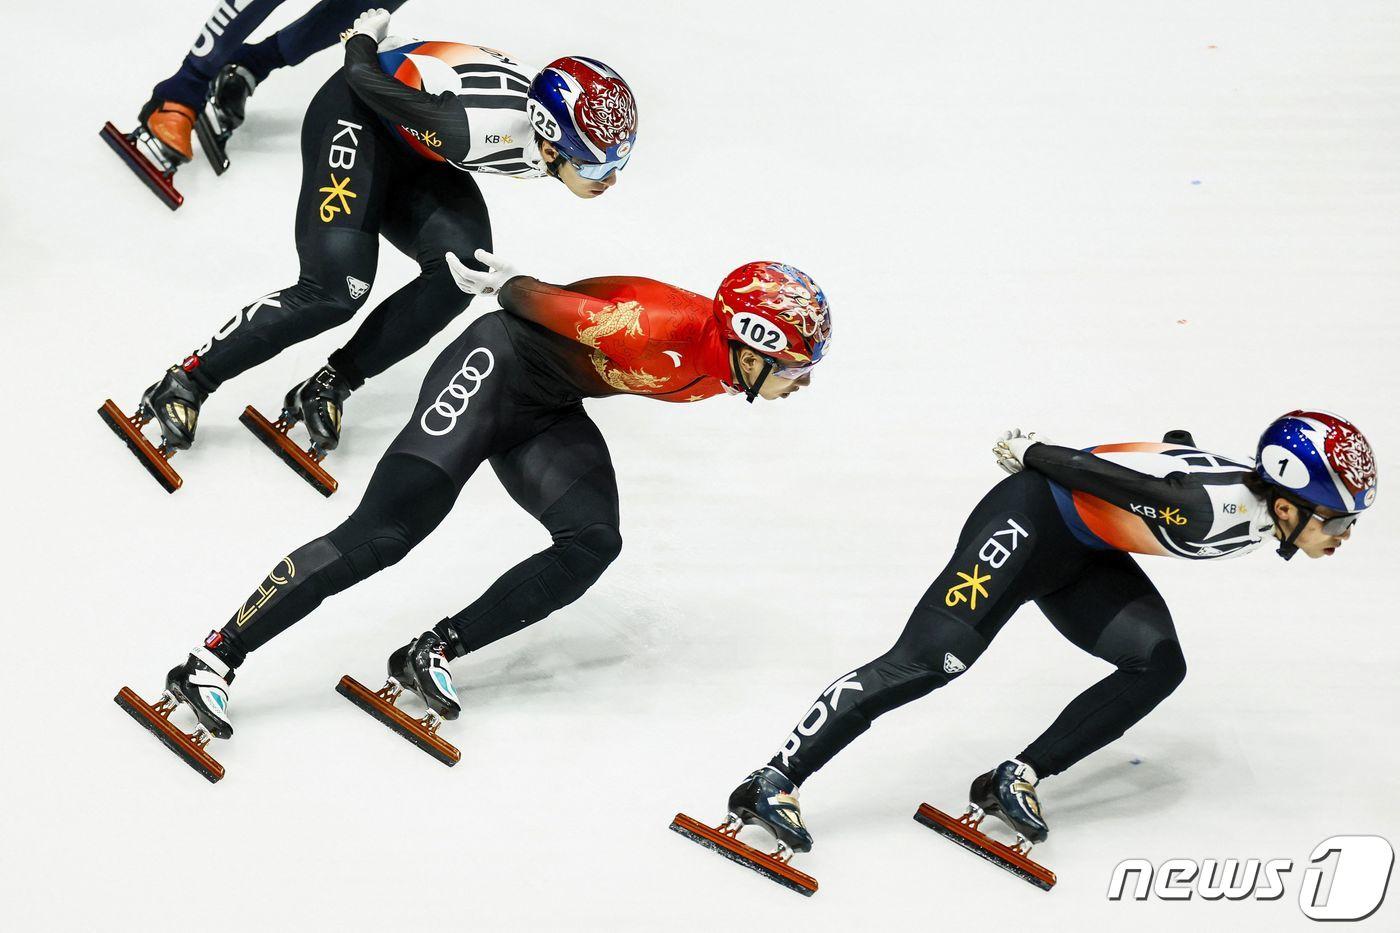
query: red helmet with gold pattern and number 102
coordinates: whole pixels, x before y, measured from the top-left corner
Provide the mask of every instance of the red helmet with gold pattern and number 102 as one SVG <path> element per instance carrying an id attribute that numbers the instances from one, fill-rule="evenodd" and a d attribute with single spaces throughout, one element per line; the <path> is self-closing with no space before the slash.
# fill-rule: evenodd
<path id="1" fill-rule="evenodd" d="M 784 378 L 811 371 L 832 342 L 832 305 L 801 269 L 784 262 L 746 262 L 720 283 L 714 315 L 727 340 L 774 361 Z"/>

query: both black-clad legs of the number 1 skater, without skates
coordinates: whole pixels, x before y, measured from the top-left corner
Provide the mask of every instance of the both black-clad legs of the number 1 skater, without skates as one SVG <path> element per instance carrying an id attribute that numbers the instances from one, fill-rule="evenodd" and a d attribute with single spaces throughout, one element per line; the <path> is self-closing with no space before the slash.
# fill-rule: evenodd
<path id="1" fill-rule="evenodd" d="M 1074 644 L 1116 667 L 1021 752 L 1039 776 L 1103 748 L 1176 689 L 1186 660 L 1162 597 L 1131 555 L 1091 548 L 1070 532 L 1033 462 L 1028 455 L 1028 469 L 973 509 L 952 560 L 895 646 L 826 688 L 771 766 L 801 785 L 876 716 L 962 675 L 1028 601 Z"/>

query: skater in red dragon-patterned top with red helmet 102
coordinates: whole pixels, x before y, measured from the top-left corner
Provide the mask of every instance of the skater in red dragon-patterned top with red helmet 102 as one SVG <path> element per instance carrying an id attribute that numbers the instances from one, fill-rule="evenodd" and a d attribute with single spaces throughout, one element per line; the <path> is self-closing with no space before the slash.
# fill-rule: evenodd
<path id="1" fill-rule="evenodd" d="M 339 688 L 409 741 L 455 762 L 456 749 L 437 735 L 441 721 L 461 712 L 448 663 L 580 598 L 622 549 L 612 457 L 582 399 L 783 399 L 811 384 L 830 342 L 826 296 L 780 262 L 739 266 L 706 297 L 634 276 L 559 287 L 517 275 L 487 252 L 476 259 L 484 270 L 454 255 L 448 266 L 463 291 L 497 296 L 503 310 L 472 322 L 438 356 L 356 510 L 277 560 L 228 622 L 171 670 L 158 703 L 126 688 L 119 695 L 206 778 L 223 773 L 203 745 L 232 734 L 228 685 L 245 657 L 326 597 L 403 559 L 489 461 L 553 544 L 393 651 L 384 689 L 371 692 L 349 677 Z M 426 703 L 421 719 L 395 705 L 402 691 Z M 169 724 L 181 703 L 199 719 L 192 735 Z"/>

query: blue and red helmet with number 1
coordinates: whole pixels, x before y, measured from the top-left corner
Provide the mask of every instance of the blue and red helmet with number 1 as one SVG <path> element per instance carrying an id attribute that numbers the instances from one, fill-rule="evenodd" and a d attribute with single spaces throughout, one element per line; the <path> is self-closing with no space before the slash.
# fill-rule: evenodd
<path id="1" fill-rule="evenodd" d="M 1338 513 L 1376 502 L 1376 458 L 1355 424 L 1330 412 L 1296 410 L 1259 438 L 1254 472 L 1291 497 Z"/>

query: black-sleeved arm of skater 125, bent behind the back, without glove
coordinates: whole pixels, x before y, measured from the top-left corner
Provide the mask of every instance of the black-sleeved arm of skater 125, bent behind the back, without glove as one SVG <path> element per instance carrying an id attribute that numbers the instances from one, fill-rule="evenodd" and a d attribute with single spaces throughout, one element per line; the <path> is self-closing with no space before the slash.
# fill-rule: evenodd
<path id="1" fill-rule="evenodd" d="M 472 148 L 472 132 L 456 95 L 442 91 L 434 97 L 398 81 L 379 69 L 378 53 L 372 36 L 356 34 L 346 41 L 344 76 L 356 95 L 386 120 L 435 136 L 442 146 L 433 151 L 444 160 L 458 163 L 466 158 Z"/>

